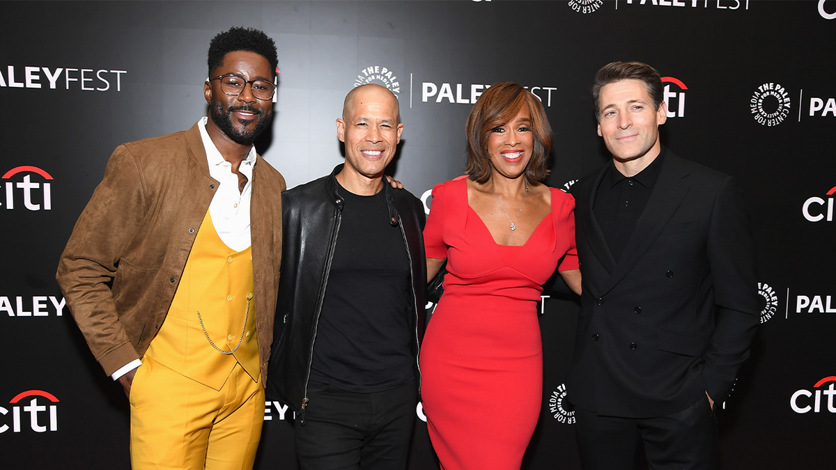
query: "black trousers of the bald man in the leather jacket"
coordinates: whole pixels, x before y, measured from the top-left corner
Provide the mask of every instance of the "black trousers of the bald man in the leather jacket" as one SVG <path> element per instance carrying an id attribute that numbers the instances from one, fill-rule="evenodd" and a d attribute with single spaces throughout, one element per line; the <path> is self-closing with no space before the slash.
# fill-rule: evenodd
<path id="1" fill-rule="evenodd" d="M 302 470 L 406 468 L 417 404 L 414 381 L 375 393 L 309 384 L 305 425 L 294 423 Z"/>

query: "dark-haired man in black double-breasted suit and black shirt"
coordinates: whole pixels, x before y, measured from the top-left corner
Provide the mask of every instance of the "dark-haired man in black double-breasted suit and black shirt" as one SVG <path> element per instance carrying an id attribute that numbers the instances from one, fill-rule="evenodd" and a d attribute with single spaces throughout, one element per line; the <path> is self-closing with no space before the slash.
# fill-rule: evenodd
<path id="1" fill-rule="evenodd" d="M 660 145 L 659 73 L 595 77 L 613 160 L 572 188 L 583 274 L 568 400 L 585 470 L 717 466 L 715 401 L 748 356 L 760 310 L 737 183 Z"/>

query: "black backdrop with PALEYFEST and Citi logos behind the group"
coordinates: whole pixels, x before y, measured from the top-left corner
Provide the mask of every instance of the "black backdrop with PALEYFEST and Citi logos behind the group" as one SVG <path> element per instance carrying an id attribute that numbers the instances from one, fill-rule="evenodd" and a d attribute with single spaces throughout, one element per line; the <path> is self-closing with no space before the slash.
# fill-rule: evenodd
<path id="1" fill-rule="evenodd" d="M 833 467 L 836 0 L 0 3 L 0 467 L 129 467 L 127 401 L 54 272 L 115 146 L 206 115 L 209 40 L 239 25 L 278 44 L 277 117 L 258 150 L 288 186 L 342 161 L 343 97 L 378 83 L 405 123 L 391 171 L 427 207 L 432 186 L 463 172 L 466 115 L 489 84 L 543 101 L 548 183 L 568 187 L 608 158 L 595 71 L 654 65 L 664 143 L 737 176 L 754 222 L 762 328 L 719 412 L 721 467 Z M 578 309 L 543 299 L 543 411 L 525 468 L 579 468 L 563 401 Z M 293 411 L 268 402 L 264 420 L 257 468 L 297 468 Z M 415 429 L 410 468 L 436 467 L 424 422 Z"/>

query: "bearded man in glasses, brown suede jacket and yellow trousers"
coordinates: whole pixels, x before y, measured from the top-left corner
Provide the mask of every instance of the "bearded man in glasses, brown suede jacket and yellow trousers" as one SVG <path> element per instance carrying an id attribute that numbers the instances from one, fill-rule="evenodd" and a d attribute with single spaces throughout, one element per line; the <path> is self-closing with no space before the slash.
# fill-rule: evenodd
<path id="1" fill-rule="evenodd" d="M 61 256 L 69 309 L 130 398 L 134 468 L 252 467 L 286 189 L 252 141 L 277 62 L 261 31 L 213 38 L 209 117 L 119 146 Z"/>

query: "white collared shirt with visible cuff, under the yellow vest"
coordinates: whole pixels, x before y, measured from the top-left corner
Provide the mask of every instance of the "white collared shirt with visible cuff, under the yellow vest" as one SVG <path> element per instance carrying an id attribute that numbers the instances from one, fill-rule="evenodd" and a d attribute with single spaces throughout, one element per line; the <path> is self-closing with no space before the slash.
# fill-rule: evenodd
<path id="1" fill-rule="evenodd" d="M 238 176 L 232 172 L 232 163 L 223 159 L 212 138 L 206 133 L 207 118 L 197 121 L 197 128 L 201 130 L 203 148 L 206 150 L 206 160 L 209 163 L 209 175 L 215 178 L 219 186 L 209 204 L 212 224 L 221 241 L 227 247 L 239 252 L 250 246 L 250 197 L 252 196 L 252 166 L 256 163 L 256 148 L 252 146 L 247 159 L 238 166 L 238 171 L 247 176 L 244 191 L 238 191 Z M 110 377 L 118 380 L 130 370 L 139 367 L 142 362 L 131 360 L 120 367 Z"/>

